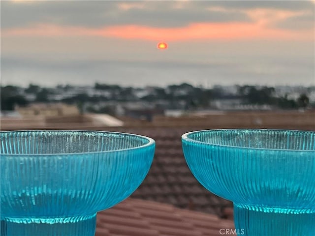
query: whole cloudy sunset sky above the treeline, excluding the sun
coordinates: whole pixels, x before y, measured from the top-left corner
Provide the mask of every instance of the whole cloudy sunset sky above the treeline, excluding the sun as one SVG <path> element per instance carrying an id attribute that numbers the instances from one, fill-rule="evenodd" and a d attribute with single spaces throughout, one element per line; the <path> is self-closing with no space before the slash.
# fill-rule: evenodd
<path id="1" fill-rule="evenodd" d="M 2 85 L 315 86 L 314 0 L 0 4 Z"/>

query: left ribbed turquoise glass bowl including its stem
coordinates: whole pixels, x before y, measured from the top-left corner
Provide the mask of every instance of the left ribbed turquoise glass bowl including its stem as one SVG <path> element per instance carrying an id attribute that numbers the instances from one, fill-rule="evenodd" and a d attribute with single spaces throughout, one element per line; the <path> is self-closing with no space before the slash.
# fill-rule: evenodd
<path id="1" fill-rule="evenodd" d="M 147 175 L 153 139 L 94 131 L 0 132 L 1 236 L 93 236 L 96 212 Z"/>

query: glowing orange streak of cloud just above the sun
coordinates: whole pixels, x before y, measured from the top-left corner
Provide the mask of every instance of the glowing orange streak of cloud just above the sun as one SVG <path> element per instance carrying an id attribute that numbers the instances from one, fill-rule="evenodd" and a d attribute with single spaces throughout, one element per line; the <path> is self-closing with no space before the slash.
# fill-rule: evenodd
<path id="1" fill-rule="evenodd" d="M 38 24 L 32 28 L 1 30 L 2 36 L 88 36 L 121 39 L 156 41 L 189 40 L 237 40 L 237 39 L 276 39 L 276 40 L 314 40 L 314 29 L 289 30 L 268 28 L 258 23 L 193 23 L 185 27 L 154 28 L 138 25 L 122 25 L 104 28 L 68 27 Z"/>

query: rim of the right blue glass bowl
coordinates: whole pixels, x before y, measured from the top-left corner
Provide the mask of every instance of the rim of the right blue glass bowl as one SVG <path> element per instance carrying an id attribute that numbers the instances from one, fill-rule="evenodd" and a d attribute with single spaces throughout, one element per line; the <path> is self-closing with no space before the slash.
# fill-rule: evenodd
<path id="1" fill-rule="evenodd" d="M 314 150 L 302 150 L 302 149 L 281 149 L 281 148 L 249 148 L 249 147 L 238 147 L 238 146 L 231 146 L 231 145 L 222 145 L 222 144 L 211 144 L 207 142 L 202 142 L 198 140 L 194 140 L 189 138 L 188 136 L 190 134 L 194 133 L 204 133 L 204 132 L 215 132 L 215 131 L 276 131 L 276 132 L 299 132 L 299 133 L 310 133 L 315 135 L 315 131 L 311 130 L 294 130 L 294 129 L 204 129 L 204 130 L 195 130 L 195 131 L 190 131 L 182 135 L 182 142 L 185 141 L 190 144 L 200 144 L 204 146 L 209 146 L 209 147 L 219 147 L 219 148 L 236 148 L 236 149 L 244 149 L 244 150 L 260 150 L 260 151 L 296 151 L 296 152 L 315 152 Z"/>

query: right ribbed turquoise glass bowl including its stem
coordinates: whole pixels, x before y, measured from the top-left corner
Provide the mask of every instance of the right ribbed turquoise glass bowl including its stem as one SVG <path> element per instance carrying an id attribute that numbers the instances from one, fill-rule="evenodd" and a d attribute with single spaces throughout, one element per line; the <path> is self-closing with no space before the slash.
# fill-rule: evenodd
<path id="1" fill-rule="evenodd" d="M 182 144 L 196 179 L 233 201 L 238 235 L 315 236 L 315 132 L 203 130 Z"/>

